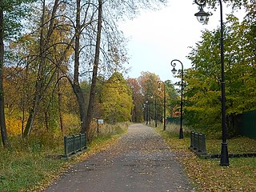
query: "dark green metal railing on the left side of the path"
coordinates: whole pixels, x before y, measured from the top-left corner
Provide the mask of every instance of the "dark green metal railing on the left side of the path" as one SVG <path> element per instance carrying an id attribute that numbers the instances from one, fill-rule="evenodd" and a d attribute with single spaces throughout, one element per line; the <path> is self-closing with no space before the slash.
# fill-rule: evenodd
<path id="1" fill-rule="evenodd" d="M 64 137 L 64 157 L 76 154 L 78 151 L 86 149 L 86 134 L 78 134 Z"/>

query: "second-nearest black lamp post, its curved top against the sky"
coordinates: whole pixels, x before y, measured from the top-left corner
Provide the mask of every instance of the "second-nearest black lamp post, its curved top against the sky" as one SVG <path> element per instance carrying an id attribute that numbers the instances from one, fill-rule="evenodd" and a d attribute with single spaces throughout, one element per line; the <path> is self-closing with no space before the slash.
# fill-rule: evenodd
<path id="1" fill-rule="evenodd" d="M 183 113 L 183 64 L 178 59 L 174 59 L 170 62 L 170 65 L 174 68 L 171 70 L 173 74 L 176 74 L 177 70 L 175 69 L 176 62 L 179 62 L 182 65 L 182 87 L 181 87 L 181 122 L 180 122 L 180 128 L 179 128 L 179 135 L 178 138 L 184 138 L 183 137 L 183 130 L 182 130 L 182 113 Z"/>

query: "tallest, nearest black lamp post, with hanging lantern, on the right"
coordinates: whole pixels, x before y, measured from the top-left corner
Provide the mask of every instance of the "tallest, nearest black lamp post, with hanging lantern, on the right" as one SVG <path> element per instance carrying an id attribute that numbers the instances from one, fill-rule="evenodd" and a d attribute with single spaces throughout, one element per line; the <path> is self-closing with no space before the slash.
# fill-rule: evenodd
<path id="1" fill-rule="evenodd" d="M 198 6 L 200 6 L 200 10 L 202 10 L 202 6 L 206 5 L 206 0 L 195 0 L 194 1 Z M 223 11 L 222 11 L 222 1 L 218 0 L 220 6 L 220 17 L 221 17 L 221 38 L 220 38 L 220 46 L 221 46 L 221 69 L 222 69 L 222 152 L 221 152 L 221 160 L 220 166 L 229 166 L 229 155 L 227 150 L 227 142 L 226 142 L 226 101 L 225 101 L 225 70 L 224 70 L 224 37 L 223 37 Z M 207 14 L 204 11 L 200 11 L 197 14 L 194 14 L 197 17 L 207 18 L 210 14 Z"/>

